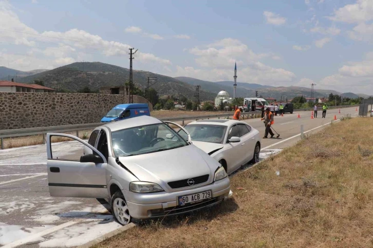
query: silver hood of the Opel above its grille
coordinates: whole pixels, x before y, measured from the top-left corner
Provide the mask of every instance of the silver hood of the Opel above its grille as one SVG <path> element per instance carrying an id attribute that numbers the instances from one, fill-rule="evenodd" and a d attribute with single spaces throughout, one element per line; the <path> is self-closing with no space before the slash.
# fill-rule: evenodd
<path id="1" fill-rule="evenodd" d="M 158 184 L 206 174 L 210 175 L 211 180 L 220 166 L 194 145 L 150 154 L 119 157 L 119 161 L 140 181 Z"/>

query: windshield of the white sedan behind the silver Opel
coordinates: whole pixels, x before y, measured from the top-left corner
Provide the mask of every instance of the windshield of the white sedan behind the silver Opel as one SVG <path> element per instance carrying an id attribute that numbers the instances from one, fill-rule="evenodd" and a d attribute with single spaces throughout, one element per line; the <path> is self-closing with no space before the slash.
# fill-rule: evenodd
<path id="1" fill-rule="evenodd" d="M 187 125 L 184 127 L 194 141 L 223 143 L 226 126 L 221 125 Z"/>

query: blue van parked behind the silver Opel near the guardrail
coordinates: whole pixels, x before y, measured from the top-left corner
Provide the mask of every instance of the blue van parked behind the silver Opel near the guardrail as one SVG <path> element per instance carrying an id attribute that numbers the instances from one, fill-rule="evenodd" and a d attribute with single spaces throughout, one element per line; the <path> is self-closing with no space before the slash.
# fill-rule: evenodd
<path id="1" fill-rule="evenodd" d="M 129 103 L 119 104 L 112 108 L 102 119 L 101 122 L 120 121 L 132 117 L 150 116 L 147 104 Z"/>

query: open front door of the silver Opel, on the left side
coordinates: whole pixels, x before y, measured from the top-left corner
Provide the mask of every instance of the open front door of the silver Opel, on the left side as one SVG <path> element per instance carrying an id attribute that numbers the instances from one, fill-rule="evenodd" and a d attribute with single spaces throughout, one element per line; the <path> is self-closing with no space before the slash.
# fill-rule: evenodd
<path id="1" fill-rule="evenodd" d="M 70 141 L 52 144 L 61 139 Z M 82 156 L 83 149 L 95 152 Z M 50 196 L 108 198 L 107 160 L 95 147 L 72 135 L 47 133 L 47 155 Z"/>

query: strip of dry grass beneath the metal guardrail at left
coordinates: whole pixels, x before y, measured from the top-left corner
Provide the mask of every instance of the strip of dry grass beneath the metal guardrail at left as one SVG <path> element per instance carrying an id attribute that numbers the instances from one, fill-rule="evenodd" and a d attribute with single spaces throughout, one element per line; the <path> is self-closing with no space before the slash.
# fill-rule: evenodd
<path id="1" fill-rule="evenodd" d="M 79 138 L 81 139 L 89 139 L 90 133 L 92 130 L 81 130 L 79 131 Z M 77 135 L 77 132 L 66 132 L 69 135 Z M 62 137 L 52 137 L 52 142 L 62 142 L 62 141 L 70 141 L 71 139 L 65 139 Z M 21 146 L 29 146 L 29 145 L 40 145 L 43 144 L 43 135 L 33 135 L 33 136 L 24 136 L 24 137 L 16 137 L 16 138 L 5 138 L 4 139 L 4 148 L 13 148 L 13 147 L 21 147 Z"/>

